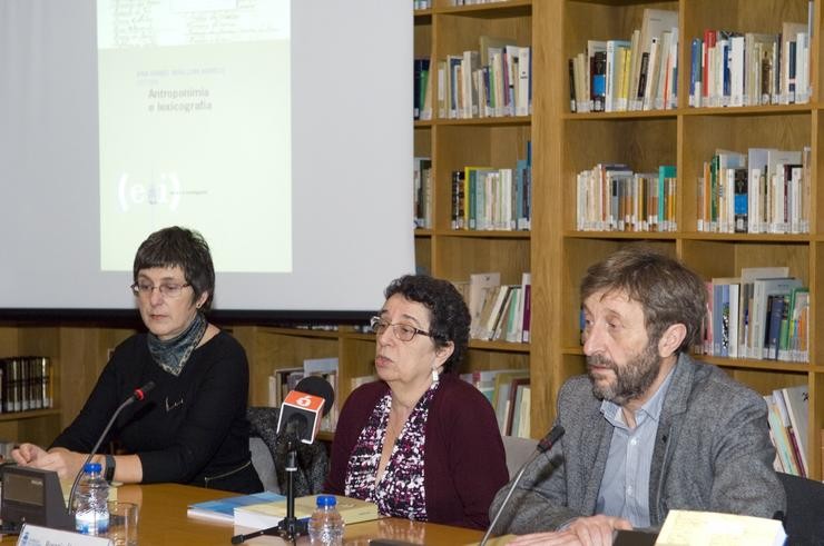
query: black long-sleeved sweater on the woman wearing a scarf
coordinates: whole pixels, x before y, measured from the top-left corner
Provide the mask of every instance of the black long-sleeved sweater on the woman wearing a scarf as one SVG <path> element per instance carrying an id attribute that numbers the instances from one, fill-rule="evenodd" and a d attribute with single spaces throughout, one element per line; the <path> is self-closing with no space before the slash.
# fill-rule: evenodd
<path id="1" fill-rule="evenodd" d="M 130 337 L 115 349 L 80 415 L 52 447 L 88 453 L 117 407 L 149 380 L 154 390 L 120 414 L 106 439 L 140 458 L 143 483 L 263 489 L 248 448 L 246 354 L 225 332 L 198 347 L 177 377 L 154 363 L 146 334 Z"/>

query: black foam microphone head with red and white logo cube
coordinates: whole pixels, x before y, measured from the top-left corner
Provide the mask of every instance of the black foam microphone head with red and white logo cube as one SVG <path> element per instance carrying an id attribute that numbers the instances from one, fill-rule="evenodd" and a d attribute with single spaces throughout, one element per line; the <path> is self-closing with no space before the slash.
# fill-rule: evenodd
<path id="1" fill-rule="evenodd" d="M 334 400 L 335 393 L 327 380 L 318 376 L 304 377 L 281 405 L 277 434 L 312 444 L 321 428 L 321 419 L 328 415 Z"/>

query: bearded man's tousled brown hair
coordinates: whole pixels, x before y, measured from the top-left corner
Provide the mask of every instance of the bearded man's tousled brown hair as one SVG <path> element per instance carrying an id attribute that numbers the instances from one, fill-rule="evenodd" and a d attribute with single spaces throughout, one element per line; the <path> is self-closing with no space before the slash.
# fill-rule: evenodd
<path id="1" fill-rule="evenodd" d="M 687 335 L 677 351 L 689 350 L 699 340 L 706 312 L 704 281 L 680 261 L 649 247 L 630 245 L 591 266 L 581 281 L 581 302 L 591 295 L 624 291 L 644 309 L 650 341 L 683 324 Z"/>

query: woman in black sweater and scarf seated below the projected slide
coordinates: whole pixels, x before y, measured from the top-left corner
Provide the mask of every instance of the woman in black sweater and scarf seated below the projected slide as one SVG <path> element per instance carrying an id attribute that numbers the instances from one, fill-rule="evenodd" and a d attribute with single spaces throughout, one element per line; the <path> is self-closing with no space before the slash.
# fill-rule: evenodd
<path id="1" fill-rule="evenodd" d="M 117 407 L 154 381 L 147 400 L 128 406 L 107 435 L 104 445 L 117 440 L 122 454 L 96 456 L 107 479 L 262 490 L 248 448 L 246 354 L 206 319 L 215 270 L 200 234 L 179 227 L 151 234 L 137 250 L 131 290 L 148 332 L 115 349 L 48 451 L 22 444 L 14 460 L 75 476 Z"/>

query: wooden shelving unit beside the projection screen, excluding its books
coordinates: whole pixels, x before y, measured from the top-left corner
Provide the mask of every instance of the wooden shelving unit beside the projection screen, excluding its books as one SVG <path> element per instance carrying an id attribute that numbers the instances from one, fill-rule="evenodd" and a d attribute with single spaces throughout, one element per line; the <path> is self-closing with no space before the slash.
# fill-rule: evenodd
<path id="1" fill-rule="evenodd" d="M 430 58 L 430 75 L 436 73 L 439 59 L 479 50 L 479 39 L 484 34 L 508 38 L 519 46 L 532 44 L 532 0 L 460 7 L 451 3 L 434 0 L 431 9 L 414 12 L 414 54 Z M 439 92 L 435 83 L 433 93 L 436 97 Z M 531 232 L 451 229 L 451 173 L 477 165 L 514 168 L 517 159 L 527 157 L 532 117 L 449 119 L 438 116 L 436 100 L 433 107 L 432 120 L 414 123 L 414 155 L 430 157 L 434 173 L 433 229 L 415 230 L 418 268 L 453 281 L 469 280 L 473 272 L 499 271 L 501 284 L 519 285 L 521 274 L 530 271 Z M 459 371 L 529 366 L 529 344 L 471 340 Z M 534 411 L 531 415 L 534 418 Z M 533 425 L 533 435 L 542 426 Z"/>

